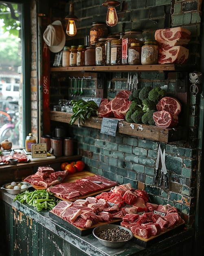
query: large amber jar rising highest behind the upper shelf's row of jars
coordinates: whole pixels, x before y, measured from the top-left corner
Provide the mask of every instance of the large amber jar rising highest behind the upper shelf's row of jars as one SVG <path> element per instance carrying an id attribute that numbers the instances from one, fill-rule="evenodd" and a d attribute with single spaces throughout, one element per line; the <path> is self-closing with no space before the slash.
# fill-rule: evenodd
<path id="1" fill-rule="evenodd" d="M 95 45 L 100 37 L 107 37 L 108 29 L 105 22 L 92 22 L 90 29 L 90 45 Z"/>

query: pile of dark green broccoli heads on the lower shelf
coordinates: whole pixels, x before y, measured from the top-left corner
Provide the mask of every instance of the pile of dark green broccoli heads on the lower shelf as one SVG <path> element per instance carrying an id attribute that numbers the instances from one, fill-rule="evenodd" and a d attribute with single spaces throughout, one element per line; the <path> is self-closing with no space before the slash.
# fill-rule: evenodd
<path id="1" fill-rule="evenodd" d="M 128 123 L 150 124 L 155 126 L 153 113 L 157 111 L 156 104 L 165 96 L 165 90 L 151 86 L 134 90 L 129 94 L 129 101 L 132 103 L 125 115 Z"/>

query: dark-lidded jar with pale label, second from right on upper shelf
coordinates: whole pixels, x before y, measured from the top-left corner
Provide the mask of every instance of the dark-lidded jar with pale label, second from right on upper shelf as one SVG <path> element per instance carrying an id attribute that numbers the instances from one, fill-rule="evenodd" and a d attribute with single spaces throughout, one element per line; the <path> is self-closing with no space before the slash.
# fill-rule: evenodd
<path id="1" fill-rule="evenodd" d="M 128 50 L 128 64 L 140 65 L 141 64 L 141 51 L 140 43 L 131 43 Z"/>

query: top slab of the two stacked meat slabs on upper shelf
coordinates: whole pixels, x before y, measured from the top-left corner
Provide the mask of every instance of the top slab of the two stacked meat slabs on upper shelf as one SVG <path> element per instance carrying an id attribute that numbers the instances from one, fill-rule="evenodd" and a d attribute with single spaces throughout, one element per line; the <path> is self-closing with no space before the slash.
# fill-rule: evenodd
<path id="1" fill-rule="evenodd" d="M 191 31 L 184 27 L 157 29 L 154 37 L 162 48 L 175 45 L 187 45 L 191 39 Z"/>

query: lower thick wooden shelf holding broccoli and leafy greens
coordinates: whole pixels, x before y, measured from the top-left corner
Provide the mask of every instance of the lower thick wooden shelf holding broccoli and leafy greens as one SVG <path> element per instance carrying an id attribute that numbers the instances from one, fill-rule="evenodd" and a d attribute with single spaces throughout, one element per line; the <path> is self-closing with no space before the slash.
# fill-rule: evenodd
<path id="1" fill-rule="evenodd" d="M 53 121 L 68 124 L 70 117 L 71 114 L 65 112 L 50 111 L 50 120 Z M 80 126 L 101 129 L 101 123 L 102 118 L 90 117 L 85 121 L 85 124 L 80 124 Z M 118 121 L 117 132 L 143 139 L 156 140 L 163 143 L 186 140 L 188 136 L 188 131 L 185 127 L 169 129 L 145 124 L 127 123 L 126 121 Z"/>

